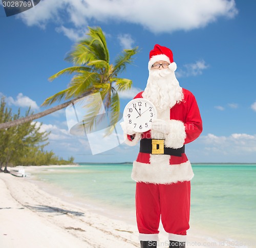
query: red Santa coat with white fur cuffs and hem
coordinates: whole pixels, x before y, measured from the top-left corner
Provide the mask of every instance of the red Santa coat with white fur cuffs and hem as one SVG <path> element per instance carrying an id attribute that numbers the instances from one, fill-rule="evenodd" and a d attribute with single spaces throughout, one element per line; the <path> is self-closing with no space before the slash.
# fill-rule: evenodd
<path id="1" fill-rule="evenodd" d="M 197 139 L 202 132 L 202 119 L 194 95 L 187 89 L 182 89 L 184 99 L 176 103 L 165 115 L 169 114 L 167 120 L 170 132 L 161 134 L 153 130 L 136 133 L 134 139 L 127 135 L 126 144 L 136 145 L 140 139 L 164 139 L 164 146 L 180 148 L 184 144 Z M 143 98 L 139 93 L 135 98 Z M 159 119 L 168 119 L 166 116 L 158 116 Z M 139 152 L 136 161 L 133 163 L 132 178 L 136 182 L 154 184 L 172 184 L 177 182 L 190 181 L 194 176 L 191 164 L 185 153 L 181 156 L 166 154 L 151 154 Z"/>

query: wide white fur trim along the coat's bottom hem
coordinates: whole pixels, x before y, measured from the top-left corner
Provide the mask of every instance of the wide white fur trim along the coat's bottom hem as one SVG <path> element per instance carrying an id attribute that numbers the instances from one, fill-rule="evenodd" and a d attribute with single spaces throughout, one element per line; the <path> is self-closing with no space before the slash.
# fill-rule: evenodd
<path id="1" fill-rule="evenodd" d="M 151 154 L 152 156 L 153 154 Z M 177 182 L 190 181 L 194 173 L 189 161 L 178 165 L 161 163 L 161 156 L 154 155 L 159 163 L 144 164 L 137 161 L 133 163 L 132 179 L 136 182 L 152 184 L 172 184 Z"/>

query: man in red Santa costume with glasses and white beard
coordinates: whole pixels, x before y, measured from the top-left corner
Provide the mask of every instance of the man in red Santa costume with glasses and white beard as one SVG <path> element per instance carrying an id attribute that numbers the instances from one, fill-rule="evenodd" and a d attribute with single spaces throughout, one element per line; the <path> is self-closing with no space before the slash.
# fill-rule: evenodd
<path id="1" fill-rule="evenodd" d="M 144 133 L 134 133 L 121 124 L 126 144 L 134 146 L 140 141 L 132 178 L 137 182 L 136 217 L 142 248 L 157 247 L 160 218 L 169 247 L 185 247 L 189 229 L 194 173 L 185 144 L 199 137 L 202 120 L 194 95 L 180 87 L 176 68 L 172 51 L 156 44 L 150 52 L 146 88 L 135 98 L 150 100 L 157 109 L 157 119 Z M 162 154 L 152 154 L 152 140 L 164 140 Z"/>

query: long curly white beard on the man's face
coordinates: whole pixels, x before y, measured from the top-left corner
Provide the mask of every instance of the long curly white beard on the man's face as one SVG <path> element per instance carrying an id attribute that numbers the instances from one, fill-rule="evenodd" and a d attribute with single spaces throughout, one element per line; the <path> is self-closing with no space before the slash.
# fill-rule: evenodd
<path id="1" fill-rule="evenodd" d="M 183 100 L 182 87 L 170 69 L 150 70 L 143 98 L 150 100 L 159 114 Z"/>

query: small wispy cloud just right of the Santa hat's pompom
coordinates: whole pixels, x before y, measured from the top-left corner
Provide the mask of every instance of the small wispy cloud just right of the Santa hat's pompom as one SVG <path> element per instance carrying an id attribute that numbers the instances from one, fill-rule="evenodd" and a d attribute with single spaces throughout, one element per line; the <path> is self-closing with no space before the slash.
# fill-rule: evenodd
<path id="1" fill-rule="evenodd" d="M 203 73 L 203 70 L 207 69 L 209 65 L 205 63 L 203 59 L 196 61 L 195 63 L 184 64 L 184 69 L 178 69 L 175 74 L 177 77 L 189 77 L 197 76 Z"/>

